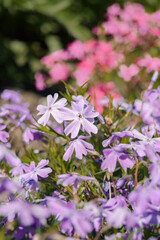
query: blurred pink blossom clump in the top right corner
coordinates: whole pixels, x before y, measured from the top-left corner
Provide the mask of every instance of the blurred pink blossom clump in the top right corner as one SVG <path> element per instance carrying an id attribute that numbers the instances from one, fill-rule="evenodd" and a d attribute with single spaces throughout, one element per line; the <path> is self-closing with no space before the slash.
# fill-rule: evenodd
<path id="1" fill-rule="evenodd" d="M 127 2 L 123 9 L 115 3 L 107 9 L 105 17 L 103 30 L 118 43 L 127 43 L 134 48 L 146 44 L 144 41 L 154 43 L 160 37 L 159 10 L 149 14 L 139 3 Z M 94 28 L 94 33 L 99 34 L 100 31 L 101 28 Z"/>

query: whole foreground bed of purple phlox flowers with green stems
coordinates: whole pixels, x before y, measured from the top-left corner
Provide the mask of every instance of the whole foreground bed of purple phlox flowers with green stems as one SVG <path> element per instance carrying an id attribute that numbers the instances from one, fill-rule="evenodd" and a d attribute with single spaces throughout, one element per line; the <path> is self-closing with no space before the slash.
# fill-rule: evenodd
<path id="1" fill-rule="evenodd" d="M 0 113 L 0 226 L 8 239 L 158 239 L 160 88 L 152 87 L 134 103 L 137 126 L 124 130 L 116 122 L 109 129 L 82 95 L 57 93 L 37 106 L 30 129 L 20 96 L 1 94 L 9 101 Z M 43 133 L 44 150 L 16 155 L 10 138 L 18 127 L 28 143 Z"/>

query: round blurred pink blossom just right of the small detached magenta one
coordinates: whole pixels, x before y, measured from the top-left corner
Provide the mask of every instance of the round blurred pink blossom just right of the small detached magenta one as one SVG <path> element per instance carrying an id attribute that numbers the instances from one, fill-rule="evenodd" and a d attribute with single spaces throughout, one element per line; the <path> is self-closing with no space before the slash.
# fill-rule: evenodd
<path id="1" fill-rule="evenodd" d="M 69 75 L 69 69 L 65 63 L 56 63 L 49 72 L 53 83 L 58 81 L 66 81 Z"/>

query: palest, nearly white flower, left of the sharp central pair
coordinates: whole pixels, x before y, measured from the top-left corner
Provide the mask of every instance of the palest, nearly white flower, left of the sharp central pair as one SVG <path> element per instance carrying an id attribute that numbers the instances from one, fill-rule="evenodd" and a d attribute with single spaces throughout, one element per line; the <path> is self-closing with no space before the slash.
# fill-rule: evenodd
<path id="1" fill-rule="evenodd" d="M 63 122 L 61 109 L 66 105 L 67 100 L 65 98 L 62 98 L 56 102 L 57 98 L 58 93 L 55 93 L 54 97 L 52 97 L 52 95 L 48 95 L 47 106 L 44 105 L 37 106 L 37 110 L 39 111 L 38 115 L 43 115 L 38 120 L 39 124 L 45 126 L 50 118 L 50 115 L 52 115 L 58 123 Z"/>

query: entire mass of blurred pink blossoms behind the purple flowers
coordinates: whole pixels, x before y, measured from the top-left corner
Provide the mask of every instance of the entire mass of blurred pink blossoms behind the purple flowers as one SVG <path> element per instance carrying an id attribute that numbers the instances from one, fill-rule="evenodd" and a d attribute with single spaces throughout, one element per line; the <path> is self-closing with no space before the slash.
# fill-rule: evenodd
<path id="1" fill-rule="evenodd" d="M 78 86 L 88 81 L 92 103 L 102 113 L 110 96 L 117 101 L 124 95 L 123 89 L 129 94 L 137 86 L 140 91 L 146 87 L 141 75 L 160 70 L 160 11 L 147 13 L 138 3 L 125 3 L 124 8 L 115 3 L 105 17 L 106 21 L 93 29 L 97 35 L 93 39 L 75 40 L 65 49 L 42 57 L 48 74 L 36 73 L 37 90 L 59 81 L 75 79 Z M 144 75 L 148 82 L 149 77 Z"/>

